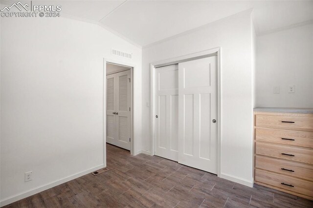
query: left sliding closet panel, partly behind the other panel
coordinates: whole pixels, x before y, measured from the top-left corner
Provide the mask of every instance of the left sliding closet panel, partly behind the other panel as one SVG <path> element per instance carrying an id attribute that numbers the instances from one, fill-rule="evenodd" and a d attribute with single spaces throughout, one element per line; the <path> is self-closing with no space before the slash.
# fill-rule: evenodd
<path id="1" fill-rule="evenodd" d="M 156 68 L 155 154 L 178 161 L 178 64 Z"/>

